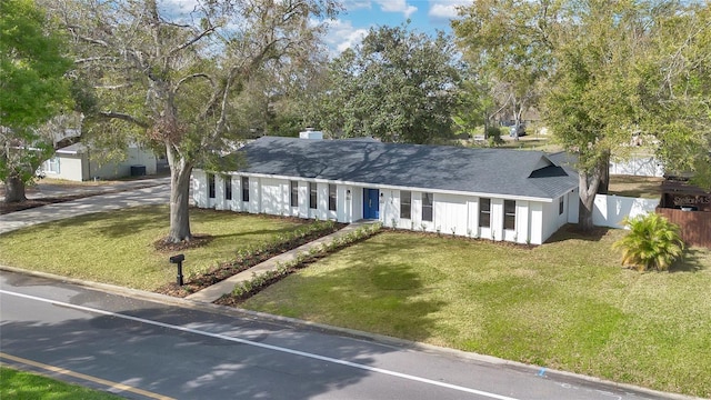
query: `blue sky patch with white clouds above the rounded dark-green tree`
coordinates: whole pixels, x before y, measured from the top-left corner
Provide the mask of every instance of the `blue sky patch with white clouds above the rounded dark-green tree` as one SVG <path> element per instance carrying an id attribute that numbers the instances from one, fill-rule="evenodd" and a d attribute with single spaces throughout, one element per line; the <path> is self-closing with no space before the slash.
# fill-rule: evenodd
<path id="1" fill-rule="evenodd" d="M 343 0 L 346 8 L 329 22 L 326 41 L 333 56 L 356 46 L 370 28 L 400 26 L 410 19 L 410 29 L 434 33 L 451 33 L 450 20 L 457 17 L 455 6 L 472 0 Z"/>

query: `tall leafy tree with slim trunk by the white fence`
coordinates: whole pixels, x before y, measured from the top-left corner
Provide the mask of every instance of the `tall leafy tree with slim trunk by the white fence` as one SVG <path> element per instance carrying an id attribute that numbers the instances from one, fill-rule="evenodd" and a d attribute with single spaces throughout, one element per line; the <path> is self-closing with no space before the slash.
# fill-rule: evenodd
<path id="1" fill-rule="evenodd" d="M 683 41 L 670 38 L 664 28 L 692 16 L 694 7 L 664 0 L 479 0 L 460 9 L 454 28 L 464 52 L 474 52 L 471 58 L 503 68 L 509 68 L 512 51 L 517 60 L 532 60 L 513 66 L 521 64 L 522 88 L 543 84 L 544 122 L 560 143 L 578 154 L 583 230 L 593 228 L 594 196 L 609 170 L 610 154 L 624 153 L 631 133 L 653 124 L 653 112 L 645 112 L 652 104 L 669 109 L 655 94 L 660 91 L 650 88 L 649 77 L 664 77 L 665 67 L 678 66 L 679 52 L 670 50 Z M 504 18 L 510 21 L 505 28 L 493 26 Z M 695 27 L 703 29 L 703 23 Z M 510 40 L 500 40 L 499 34 Z M 675 46 L 655 44 L 668 40 Z M 689 67 L 680 68 L 677 82 L 683 81 Z M 525 79 L 531 73 L 543 80 Z M 667 124 L 688 126 L 684 114 L 664 117 Z M 677 132 L 690 138 L 684 130 Z"/>

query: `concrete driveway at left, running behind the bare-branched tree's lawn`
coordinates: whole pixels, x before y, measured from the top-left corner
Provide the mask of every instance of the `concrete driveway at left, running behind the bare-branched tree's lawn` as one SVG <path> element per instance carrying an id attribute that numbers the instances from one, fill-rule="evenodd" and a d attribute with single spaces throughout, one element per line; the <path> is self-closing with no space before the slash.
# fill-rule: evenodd
<path id="1" fill-rule="evenodd" d="M 170 178 L 147 181 L 131 181 L 120 187 L 112 186 L 119 192 L 94 194 L 78 200 L 37 207 L 0 216 L 0 234 L 38 223 L 57 221 L 64 218 L 118 210 L 143 204 L 166 204 L 170 200 Z M 152 184 L 147 187 L 147 184 Z M 132 189 L 140 188 L 140 189 Z M 132 189 L 132 190 L 131 190 Z"/>

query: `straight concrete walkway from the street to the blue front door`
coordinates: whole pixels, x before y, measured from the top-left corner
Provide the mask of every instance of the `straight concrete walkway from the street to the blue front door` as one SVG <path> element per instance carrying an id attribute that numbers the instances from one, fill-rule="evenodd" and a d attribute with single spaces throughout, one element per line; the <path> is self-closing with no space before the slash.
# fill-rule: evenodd
<path id="1" fill-rule="evenodd" d="M 232 289 L 234 289 L 234 286 L 239 282 L 243 282 L 243 281 L 248 281 L 251 280 L 252 277 L 254 274 L 259 274 L 259 273 L 263 273 L 266 271 L 271 271 L 271 270 L 276 270 L 280 263 L 284 263 L 284 262 L 289 262 L 291 260 L 296 260 L 297 254 L 298 253 L 302 253 L 302 252 L 308 252 L 310 249 L 314 248 L 314 247 L 319 247 L 321 246 L 321 243 L 330 243 L 331 241 L 333 241 L 333 239 L 346 236 L 354 230 L 358 230 L 359 228 L 370 224 L 370 223 L 375 223 L 378 221 L 372 221 L 372 220 L 360 220 L 360 221 L 356 221 L 353 223 L 350 223 L 349 226 L 342 228 L 341 230 L 338 230 L 331 234 L 324 236 L 322 238 L 319 238 L 314 241 L 308 242 L 306 244 L 302 244 L 296 249 L 289 250 L 284 253 L 281 253 L 279 256 L 272 257 L 267 261 L 263 261 L 246 271 L 242 271 L 236 276 L 232 276 L 221 282 L 218 282 L 209 288 L 202 289 L 199 292 L 192 293 L 190 296 L 188 296 L 186 299 L 188 300 L 194 300 L 194 301 L 202 301 L 202 302 L 213 302 L 217 299 L 219 299 L 220 297 L 222 297 L 222 294 L 226 293 L 230 293 L 232 292 Z"/>

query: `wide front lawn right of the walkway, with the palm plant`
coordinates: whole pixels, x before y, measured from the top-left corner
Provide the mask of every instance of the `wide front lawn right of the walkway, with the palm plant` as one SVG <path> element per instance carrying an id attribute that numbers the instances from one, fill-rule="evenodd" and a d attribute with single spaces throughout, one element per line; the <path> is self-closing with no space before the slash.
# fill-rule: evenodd
<path id="1" fill-rule="evenodd" d="M 711 396 L 711 251 L 639 273 L 610 251 L 622 234 L 559 232 L 527 249 L 388 231 L 242 307 Z"/>

